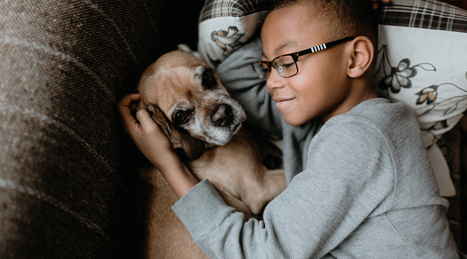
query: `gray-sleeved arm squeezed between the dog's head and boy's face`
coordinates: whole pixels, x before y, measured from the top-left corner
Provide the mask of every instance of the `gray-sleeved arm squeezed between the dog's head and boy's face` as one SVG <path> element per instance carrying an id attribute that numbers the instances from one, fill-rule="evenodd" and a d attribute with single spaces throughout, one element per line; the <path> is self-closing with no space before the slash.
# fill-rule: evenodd
<path id="1" fill-rule="evenodd" d="M 268 135 L 282 137 L 281 114 L 252 63 L 261 60 L 259 36 L 252 37 L 217 67 L 216 72 L 232 98 L 245 110 L 248 122 Z"/>

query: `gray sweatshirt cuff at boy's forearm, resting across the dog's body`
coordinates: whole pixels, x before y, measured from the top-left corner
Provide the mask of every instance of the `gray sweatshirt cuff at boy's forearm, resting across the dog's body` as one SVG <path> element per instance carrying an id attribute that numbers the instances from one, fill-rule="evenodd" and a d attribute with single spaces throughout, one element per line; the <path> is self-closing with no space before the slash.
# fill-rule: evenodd
<path id="1" fill-rule="evenodd" d="M 219 218 L 226 214 L 235 212 L 235 209 L 224 202 L 207 179 L 185 193 L 172 206 L 172 210 L 195 241 L 196 236 L 201 235 L 213 222 L 219 221 Z"/>

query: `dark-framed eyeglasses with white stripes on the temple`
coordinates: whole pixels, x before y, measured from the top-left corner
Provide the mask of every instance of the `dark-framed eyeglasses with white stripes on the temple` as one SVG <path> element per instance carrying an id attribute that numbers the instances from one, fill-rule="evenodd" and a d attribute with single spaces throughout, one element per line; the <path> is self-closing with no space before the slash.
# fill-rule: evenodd
<path id="1" fill-rule="evenodd" d="M 324 43 L 312 48 L 307 48 L 302 51 L 285 54 L 273 59 L 272 61 L 258 61 L 253 63 L 252 66 L 256 73 L 258 73 L 259 78 L 261 78 L 264 81 L 266 81 L 269 77 L 269 74 L 271 74 L 271 67 L 273 67 L 280 76 L 288 78 L 298 73 L 298 57 L 330 48 L 337 44 L 353 40 L 354 38 L 355 37 L 341 38 L 338 40 L 331 41 L 329 43 Z"/>

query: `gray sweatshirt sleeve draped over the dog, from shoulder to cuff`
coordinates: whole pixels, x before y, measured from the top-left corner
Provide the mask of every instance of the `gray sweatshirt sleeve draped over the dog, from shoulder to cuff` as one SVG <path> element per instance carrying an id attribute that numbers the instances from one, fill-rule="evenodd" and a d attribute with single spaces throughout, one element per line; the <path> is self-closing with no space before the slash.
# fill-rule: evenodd
<path id="1" fill-rule="evenodd" d="M 362 123 L 325 126 L 311 142 L 306 170 L 268 204 L 263 221 L 244 222 L 207 180 L 175 203 L 211 259 L 321 258 L 370 214 L 390 208 L 395 173 L 382 133 Z"/>

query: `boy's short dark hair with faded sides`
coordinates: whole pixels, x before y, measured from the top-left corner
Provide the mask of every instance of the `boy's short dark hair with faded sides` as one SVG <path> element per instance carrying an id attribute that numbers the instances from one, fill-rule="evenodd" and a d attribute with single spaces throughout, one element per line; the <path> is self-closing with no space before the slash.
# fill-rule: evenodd
<path id="1" fill-rule="evenodd" d="M 377 47 L 378 23 L 370 0 L 278 0 L 270 11 L 292 6 L 308 6 L 319 19 L 329 22 L 331 40 L 348 36 L 366 36 Z M 376 50 L 376 48 L 375 48 Z"/>

